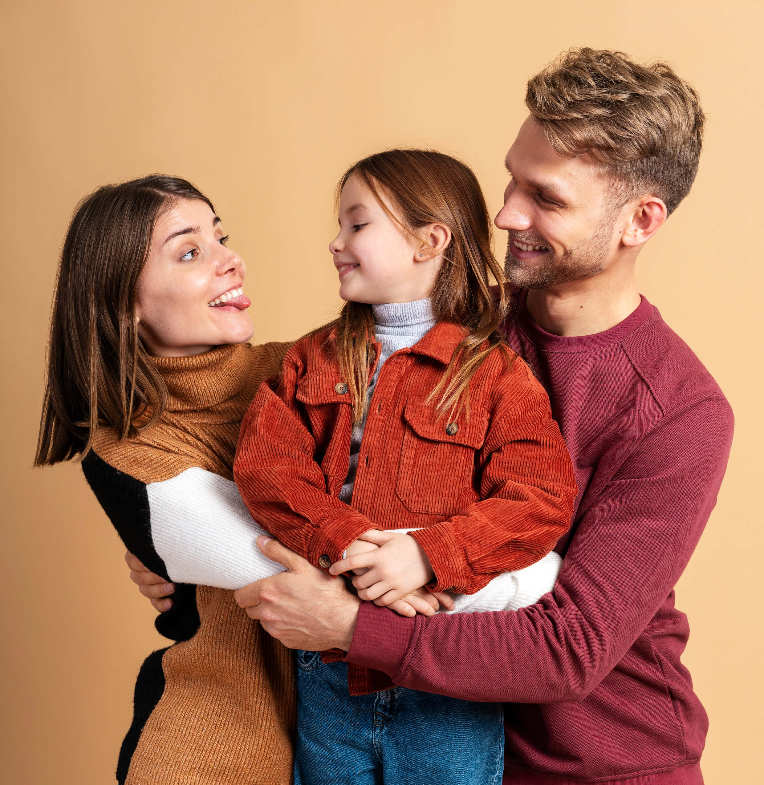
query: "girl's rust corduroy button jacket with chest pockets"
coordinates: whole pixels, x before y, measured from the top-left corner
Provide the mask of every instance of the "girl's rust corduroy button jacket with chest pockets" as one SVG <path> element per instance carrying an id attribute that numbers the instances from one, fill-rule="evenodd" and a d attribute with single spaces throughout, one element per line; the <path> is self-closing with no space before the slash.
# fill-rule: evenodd
<path id="1" fill-rule="evenodd" d="M 242 423 L 233 471 L 253 517 L 322 568 L 364 531 L 420 528 L 411 536 L 435 590 L 473 593 L 549 553 L 570 524 L 576 481 L 528 366 L 517 358 L 508 369 L 492 352 L 470 382 L 469 418 L 449 422 L 426 401 L 463 335 L 438 323 L 382 367 L 351 505 L 338 498 L 350 396 L 325 335 L 298 341 L 276 392 L 261 385 Z"/>

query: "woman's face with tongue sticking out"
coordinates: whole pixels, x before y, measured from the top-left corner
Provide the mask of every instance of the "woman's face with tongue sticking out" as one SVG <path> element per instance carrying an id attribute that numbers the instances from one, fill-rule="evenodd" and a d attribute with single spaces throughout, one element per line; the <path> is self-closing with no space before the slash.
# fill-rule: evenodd
<path id="1" fill-rule="evenodd" d="M 252 337 L 250 301 L 241 293 L 247 268 L 226 239 L 202 201 L 181 199 L 156 221 L 136 302 L 152 355 L 201 354 Z"/>

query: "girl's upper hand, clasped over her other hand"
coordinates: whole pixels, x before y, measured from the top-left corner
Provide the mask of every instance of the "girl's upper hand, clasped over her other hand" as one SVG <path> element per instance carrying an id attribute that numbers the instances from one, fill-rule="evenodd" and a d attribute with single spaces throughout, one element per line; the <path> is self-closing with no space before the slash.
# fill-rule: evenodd
<path id="1" fill-rule="evenodd" d="M 389 606 L 432 580 L 430 559 L 413 537 L 371 529 L 358 539 L 379 546 L 378 550 L 346 557 L 332 564 L 329 571 L 340 575 L 367 568 L 353 579 L 362 600 Z"/>

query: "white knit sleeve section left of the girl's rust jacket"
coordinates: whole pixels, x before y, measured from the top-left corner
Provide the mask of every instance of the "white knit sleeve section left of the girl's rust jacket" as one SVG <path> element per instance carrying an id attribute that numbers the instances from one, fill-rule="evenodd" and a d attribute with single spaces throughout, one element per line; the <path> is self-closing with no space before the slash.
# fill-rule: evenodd
<path id="1" fill-rule="evenodd" d="M 205 469 L 186 469 L 146 486 L 154 548 L 170 579 L 220 589 L 283 572 L 260 553 L 268 534 L 255 523 L 232 480 Z"/>

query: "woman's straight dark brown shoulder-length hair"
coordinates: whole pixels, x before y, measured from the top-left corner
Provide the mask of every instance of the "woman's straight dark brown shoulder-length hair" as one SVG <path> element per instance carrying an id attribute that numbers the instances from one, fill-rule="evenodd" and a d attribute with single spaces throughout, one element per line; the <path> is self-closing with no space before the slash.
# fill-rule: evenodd
<path id="1" fill-rule="evenodd" d="M 166 390 L 138 337 L 135 301 L 154 226 L 178 199 L 200 199 L 180 177 L 104 185 L 79 203 L 53 298 L 35 466 L 86 455 L 101 425 L 124 439 L 162 414 Z"/>

